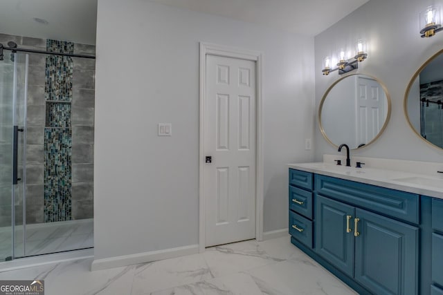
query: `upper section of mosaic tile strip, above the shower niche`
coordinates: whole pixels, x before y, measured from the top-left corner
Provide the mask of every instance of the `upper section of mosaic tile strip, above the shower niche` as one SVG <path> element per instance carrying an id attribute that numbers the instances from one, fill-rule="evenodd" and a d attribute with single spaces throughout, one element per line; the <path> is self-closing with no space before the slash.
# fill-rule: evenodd
<path id="1" fill-rule="evenodd" d="M 46 51 L 51 53 L 74 53 L 74 44 L 48 39 L 46 40 Z M 46 56 L 46 100 L 72 101 L 73 68 L 72 57 Z"/>

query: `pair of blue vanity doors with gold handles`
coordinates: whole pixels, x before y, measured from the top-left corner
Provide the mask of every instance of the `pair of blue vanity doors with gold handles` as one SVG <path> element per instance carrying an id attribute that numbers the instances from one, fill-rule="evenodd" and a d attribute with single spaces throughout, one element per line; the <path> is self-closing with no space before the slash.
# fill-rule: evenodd
<path id="1" fill-rule="evenodd" d="M 375 294 L 416 294 L 418 228 L 323 196 L 316 252 Z"/>

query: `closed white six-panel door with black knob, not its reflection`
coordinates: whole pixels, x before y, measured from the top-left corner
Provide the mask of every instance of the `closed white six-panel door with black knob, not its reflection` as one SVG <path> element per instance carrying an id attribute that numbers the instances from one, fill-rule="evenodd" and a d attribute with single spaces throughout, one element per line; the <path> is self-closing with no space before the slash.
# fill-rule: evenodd
<path id="1" fill-rule="evenodd" d="M 255 61 L 206 55 L 206 247 L 255 238 Z"/>

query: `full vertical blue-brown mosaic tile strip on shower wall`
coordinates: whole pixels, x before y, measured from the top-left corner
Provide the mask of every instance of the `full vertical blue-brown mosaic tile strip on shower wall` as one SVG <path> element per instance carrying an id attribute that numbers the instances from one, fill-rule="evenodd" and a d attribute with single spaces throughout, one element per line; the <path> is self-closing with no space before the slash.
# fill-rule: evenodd
<path id="1" fill-rule="evenodd" d="M 48 39 L 46 50 L 73 53 L 72 42 Z M 46 128 L 44 129 L 44 222 L 72 219 L 72 101 L 73 59 L 46 57 Z"/>

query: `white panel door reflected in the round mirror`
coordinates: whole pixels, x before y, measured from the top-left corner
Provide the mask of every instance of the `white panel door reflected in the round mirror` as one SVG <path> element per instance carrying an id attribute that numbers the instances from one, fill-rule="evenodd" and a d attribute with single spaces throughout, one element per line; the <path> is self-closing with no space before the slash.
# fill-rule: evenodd
<path id="1" fill-rule="evenodd" d="M 363 77 L 358 78 L 356 91 L 356 144 L 368 144 L 384 124 L 385 92 L 377 81 Z"/>

